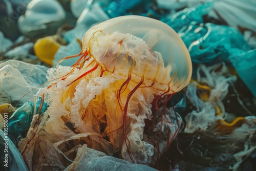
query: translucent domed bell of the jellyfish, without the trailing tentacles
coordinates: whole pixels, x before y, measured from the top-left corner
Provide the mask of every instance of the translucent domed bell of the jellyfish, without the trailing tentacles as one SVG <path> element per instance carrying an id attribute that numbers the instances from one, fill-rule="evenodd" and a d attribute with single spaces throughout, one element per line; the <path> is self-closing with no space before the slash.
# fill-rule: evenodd
<path id="1" fill-rule="evenodd" d="M 148 85 L 168 85 L 170 93 L 180 91 L 190 80 L 192 66 L 186 46 L 159 20 L 135 15 L 116 17 L 92 27 L 82 42 L 83 50 L 107 71 L 143 75 Z"/>

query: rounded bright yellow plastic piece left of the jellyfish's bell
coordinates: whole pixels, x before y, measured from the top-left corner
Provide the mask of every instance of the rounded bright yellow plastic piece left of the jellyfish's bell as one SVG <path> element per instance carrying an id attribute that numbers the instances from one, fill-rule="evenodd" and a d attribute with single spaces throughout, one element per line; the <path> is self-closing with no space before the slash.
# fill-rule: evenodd
<path id="1" fill-rule="evenodd" d="M 62 40 L 57 35 L 39 38 L 34 45 L 34 51 L 36 56 L 41 61 L 52 66 L 55 53 L 58 51 L 61 44 L 65 44 L 65 42 L 61 41 L 64 40 Z"/>

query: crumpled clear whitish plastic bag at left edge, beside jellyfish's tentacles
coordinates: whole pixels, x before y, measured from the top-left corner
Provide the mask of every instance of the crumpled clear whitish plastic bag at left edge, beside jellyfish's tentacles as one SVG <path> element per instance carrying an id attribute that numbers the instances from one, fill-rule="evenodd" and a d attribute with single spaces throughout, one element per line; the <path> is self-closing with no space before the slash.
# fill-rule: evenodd
<path id="1" fill-rule="evenodd" d="M 12 102 L 20 100 L 20 103 L 24 104 L 33 99 L 33 95 L 39 89 L 37 87 L 47 81 L 47 70 L 48 68 L 45 66 L 32 65 L 17 60 L 1 63 L 0 91 L 4 92 L 5 96 L 9 97 Z M 29 94 L 26 95 L 27 93 Z"/>

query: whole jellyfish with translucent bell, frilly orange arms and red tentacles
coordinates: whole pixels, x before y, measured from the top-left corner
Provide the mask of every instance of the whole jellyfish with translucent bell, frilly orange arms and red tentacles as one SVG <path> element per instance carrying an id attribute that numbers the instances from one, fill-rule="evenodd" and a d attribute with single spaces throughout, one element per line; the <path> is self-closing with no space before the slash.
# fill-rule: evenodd
<path id="1" fill-rule="evenodd" d="M 156 162 L 178 130 L 159 105 L 166 107 L 191 77 L 178 34 L 156 19 L 116 17 L 89 29 L 82 51 L 63 60 L 76 56 L 72 67 L 50 69 L 47 77 L 54 81 L 37 93 L 49 106 L 34 116 L 19 144 L 29 168 L 35 169 L 32 161 L 65 168 L 63 161 L 73 161 L 71 154 L 84 143 L 132 163 Z M 156 149 L 148 136 L 164 127 L 168 135 Z"/>

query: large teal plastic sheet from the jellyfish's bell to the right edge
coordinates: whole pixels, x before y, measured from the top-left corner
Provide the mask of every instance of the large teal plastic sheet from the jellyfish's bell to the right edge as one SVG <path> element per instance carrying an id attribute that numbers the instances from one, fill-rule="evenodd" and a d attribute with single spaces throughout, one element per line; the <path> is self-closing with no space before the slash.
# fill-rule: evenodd
<path id="1" fill-rule="evenodd" d="M 193 66 L 195 63 L 231 64 L 256 96 L 256 78 L 251 76 L 256 75 L 256 51 L 252 50 L 239 30 L 212 23 L 204 24 L 203 16 L 213 9 L 213 5 L 205 3 L 195 8 L 186 8 L 162 21 L 178 32 L 188 48 Z"/>

